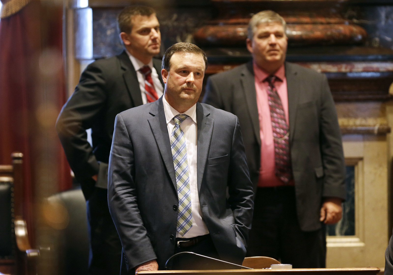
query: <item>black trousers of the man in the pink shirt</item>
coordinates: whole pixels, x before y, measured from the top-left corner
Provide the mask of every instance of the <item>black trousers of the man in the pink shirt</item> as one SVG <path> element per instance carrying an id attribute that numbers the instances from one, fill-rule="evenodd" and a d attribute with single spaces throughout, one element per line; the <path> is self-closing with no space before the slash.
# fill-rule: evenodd
<path id="1" fill-rule="evenodd" d="M 261 187 L 255 194 L 247 257 L 267 256 L 293 268 L 325 268 L 325 226 L 300 229 L 294 186 Z"/>

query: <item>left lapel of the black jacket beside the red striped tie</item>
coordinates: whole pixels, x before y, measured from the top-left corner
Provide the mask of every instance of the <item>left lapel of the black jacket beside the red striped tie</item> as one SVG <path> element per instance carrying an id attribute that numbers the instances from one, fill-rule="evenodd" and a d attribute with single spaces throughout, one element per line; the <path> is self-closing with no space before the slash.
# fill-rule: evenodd
<path id="1" fill-rule="evenodd" d="M 138 77 L 136 76 L 136 71 L 134 66 L 132 66 L 130 58 L 125 51 L 118 55 L 118 57 L 120 59 L 121 68 L 124 70 L 123 79 L 130 94 L 130 98 L 132 102 L 134 102 L 134 107 L 142 105 L 143 102 Z"/>

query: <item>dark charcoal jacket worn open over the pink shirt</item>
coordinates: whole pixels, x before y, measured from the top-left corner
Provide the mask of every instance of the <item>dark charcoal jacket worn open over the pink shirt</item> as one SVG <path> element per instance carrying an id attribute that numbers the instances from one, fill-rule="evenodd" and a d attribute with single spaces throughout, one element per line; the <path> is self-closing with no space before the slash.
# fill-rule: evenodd
<path id="1" fill-rule="evenodd" d="M 321 228 L 322 197 L 345 199 L 345 164 L 340 127 L 327 78 L 285 63 L 289 142 L 299 224 Z M 204 102 L 239 117 L 250 177 L 257 188 L 261 138 L 252 62 L 211 76 Z"/>

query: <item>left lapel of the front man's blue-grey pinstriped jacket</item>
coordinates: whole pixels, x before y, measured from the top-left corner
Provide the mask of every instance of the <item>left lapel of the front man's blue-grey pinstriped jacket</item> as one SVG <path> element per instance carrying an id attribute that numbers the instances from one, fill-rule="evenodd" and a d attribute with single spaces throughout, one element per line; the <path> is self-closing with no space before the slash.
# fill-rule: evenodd
<path id="1" fill-rule="evenodd" d="M 157 142 L 158 149 L 160 150 L 161 157 L 164 161 L 165 167 L 167 168 L 169 177 L 172 180 L 175 191 L 176 187 L 176 178 L 174 174 L 174 165 L 172 159 L 172 151 L 171 151 L 171 141 L 169 140 L 167 122 L 165 119 L 165 112 L 162 103 L 162 97 L 151 103 L 152 108 L 149 113 L 152 115 L 148 118 L 151 130 L 153 132 L 154 138 Z M 176 191 L 177 194 L 177 191 Z"/>

